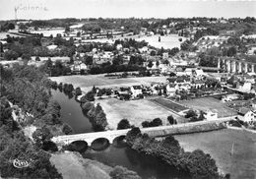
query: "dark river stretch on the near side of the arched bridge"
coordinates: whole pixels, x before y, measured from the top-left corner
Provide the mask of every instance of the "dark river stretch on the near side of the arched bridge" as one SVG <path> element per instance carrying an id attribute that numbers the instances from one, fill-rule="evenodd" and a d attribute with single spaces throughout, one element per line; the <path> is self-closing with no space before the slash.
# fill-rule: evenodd
<path id="1" fill-rule="evenodd" d="M 147 155 L 142 155 L 130 148 L 115 148 L 110 146 L 102 151 L 88 149 L 83 156 L 95 159 L 110 166 L 122 165 L 136 171 L 143 179 L 156 177 L 158 179 L 188 179 L 162 161 Z"/>

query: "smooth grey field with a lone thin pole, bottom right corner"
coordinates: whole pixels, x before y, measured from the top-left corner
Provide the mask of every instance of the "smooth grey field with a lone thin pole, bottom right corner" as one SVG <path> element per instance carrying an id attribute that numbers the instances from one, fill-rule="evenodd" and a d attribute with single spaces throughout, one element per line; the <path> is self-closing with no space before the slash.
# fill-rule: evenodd
<path id="1" fill-rule="evenodd" d="M 202 149 L 217 161 L 220 171 L 231 179 L 256 178 L 256 134 L 224 129 L 175 136 L 185 150 Z M 231 154 L 233 144 L 233 154 Z"/>

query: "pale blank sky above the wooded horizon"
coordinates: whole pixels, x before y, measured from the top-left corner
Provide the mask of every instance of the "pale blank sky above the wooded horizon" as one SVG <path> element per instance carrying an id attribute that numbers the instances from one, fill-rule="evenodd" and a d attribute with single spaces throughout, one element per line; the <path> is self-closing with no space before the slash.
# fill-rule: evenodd
<path id="1" fill-rule="evenodd" d="M 0 20 L 53 18 L 245 18 L 256 1 L 241 0 L 0 0 Z"/>

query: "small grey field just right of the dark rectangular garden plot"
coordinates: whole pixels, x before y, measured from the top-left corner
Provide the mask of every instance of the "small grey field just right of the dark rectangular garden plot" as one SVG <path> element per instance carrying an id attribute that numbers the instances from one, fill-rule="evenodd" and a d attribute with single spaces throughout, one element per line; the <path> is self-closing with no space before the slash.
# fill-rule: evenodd
<path id="1" fill-rule="evenodd" d="M 227 117 L 236 114 L 232 109 L 225 106 L 225 104 L 214 97 L 203 97 L 191 100 L 182 100 L 179 103 L 197 110 L 207 111 L 208 109 L 215 109 L 218 111 L 218 117 Z"/>

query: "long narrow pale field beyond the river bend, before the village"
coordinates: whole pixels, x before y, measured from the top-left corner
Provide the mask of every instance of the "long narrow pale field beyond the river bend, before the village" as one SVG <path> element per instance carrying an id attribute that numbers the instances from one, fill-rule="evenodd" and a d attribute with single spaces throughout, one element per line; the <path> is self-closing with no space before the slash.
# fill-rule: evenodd
<path id="1" fill-rule="evenodd" d="M 80 87 L 84 91 L 91 90 L 94 86 L 99 88 L 131 87 L 135 85 L 151 85 L 152 82 L 166 82 L 166 77 L 142 77 L 126 79 L 109 79 L 104 75 L 88 76 L 62 76 L 51 77 L 52 81 L 57 83 L 73 84 L 74 87 Z"/>

